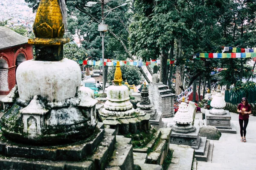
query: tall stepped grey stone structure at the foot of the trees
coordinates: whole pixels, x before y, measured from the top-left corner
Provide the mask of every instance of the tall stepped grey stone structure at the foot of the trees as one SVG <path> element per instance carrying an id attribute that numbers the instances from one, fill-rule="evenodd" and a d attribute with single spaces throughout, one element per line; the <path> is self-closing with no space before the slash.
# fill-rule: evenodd
<path id="1" fill-rule="evenodd" d="M 163 82 L 150 82 L 149 87 L 149 99 L 154 104 L 154 108 L 157 112 L 163 113 L 163 117 L 174 116 L 174 96 L 172 91 L 169 90 L 167 85 Z"/>

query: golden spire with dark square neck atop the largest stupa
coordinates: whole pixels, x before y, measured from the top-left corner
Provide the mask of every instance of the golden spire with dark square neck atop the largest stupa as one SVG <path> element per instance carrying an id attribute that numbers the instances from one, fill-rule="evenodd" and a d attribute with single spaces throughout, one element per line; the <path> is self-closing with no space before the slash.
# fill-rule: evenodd
<path id="1" fill-rule="evenodd" d="M 58 61 L 63 58 L 63 44 L 70 41 L 63 38 L 66 27 L 65 0 L 41 0 L 36 12 L 33 31 L 36 60 Z"/>

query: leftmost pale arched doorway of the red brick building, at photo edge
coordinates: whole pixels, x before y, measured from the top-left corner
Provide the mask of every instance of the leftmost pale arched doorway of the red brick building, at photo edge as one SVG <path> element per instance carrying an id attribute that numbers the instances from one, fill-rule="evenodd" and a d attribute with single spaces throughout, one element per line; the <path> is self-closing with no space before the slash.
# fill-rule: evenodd
<path id="1" fill-rule="evenodd" d="M 9 91 L 8 64 L 5 59 L 0 59 L 0 91 Z"/>

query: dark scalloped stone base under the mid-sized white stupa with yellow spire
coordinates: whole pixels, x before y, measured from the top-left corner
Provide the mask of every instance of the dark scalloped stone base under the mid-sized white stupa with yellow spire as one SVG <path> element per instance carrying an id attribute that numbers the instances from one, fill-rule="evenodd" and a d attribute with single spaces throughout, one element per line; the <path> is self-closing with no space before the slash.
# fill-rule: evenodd
<path id="1" fill-rule="evenodd" d="M 104 108 L 103 108 L 104 109 Z M 148 131 L 150 128 L 150 115 L 146 113 L 135 113 L 131 116 L 108 116 L 103 114 L 102 108 L 99 111 L 99 119 L 116 130 L 116 134 L 137 133 L 137 130 Z"/>

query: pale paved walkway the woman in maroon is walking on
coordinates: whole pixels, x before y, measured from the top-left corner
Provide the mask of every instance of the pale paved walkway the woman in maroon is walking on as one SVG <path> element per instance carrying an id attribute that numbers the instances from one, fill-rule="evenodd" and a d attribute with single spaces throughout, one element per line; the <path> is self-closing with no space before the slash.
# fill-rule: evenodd
<path id="1" fill-rule="evenodd" d="M 197 170 L 256 170 L 256 116 L 249 118 L 247 142 L 240 142 L 238 114 L 231 116 L 237 133 L 222 133 L 218 141 L 213 141 L 212 161 L 198 161 Z M 196 113 L 196 119 L 202 119 L 201 113 Z M 172 118 L 163 118 L 163 122 L 169 121 Z"/>

